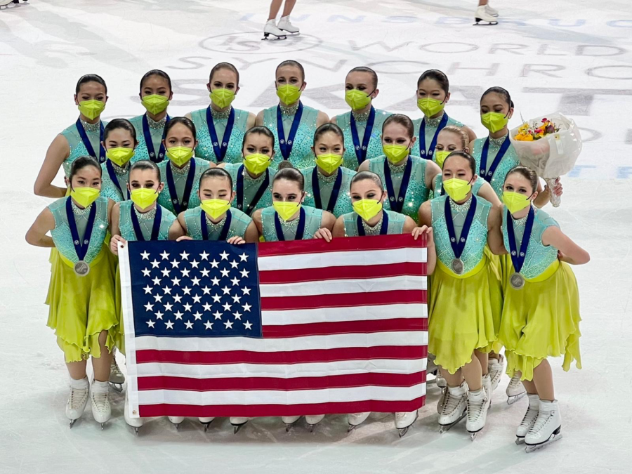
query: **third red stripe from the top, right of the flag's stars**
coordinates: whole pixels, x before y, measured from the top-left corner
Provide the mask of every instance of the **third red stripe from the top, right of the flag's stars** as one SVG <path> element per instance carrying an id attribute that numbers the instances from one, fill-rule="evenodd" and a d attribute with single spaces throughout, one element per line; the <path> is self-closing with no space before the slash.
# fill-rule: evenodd
<path id="1" fill-rule="evenodd" d="M 367 291 L 366 293 L 319 294 L 310 296 L 265 296 L 262 311 L 312 310 L 349 306 L 426 303 L 426 290 Z"/>

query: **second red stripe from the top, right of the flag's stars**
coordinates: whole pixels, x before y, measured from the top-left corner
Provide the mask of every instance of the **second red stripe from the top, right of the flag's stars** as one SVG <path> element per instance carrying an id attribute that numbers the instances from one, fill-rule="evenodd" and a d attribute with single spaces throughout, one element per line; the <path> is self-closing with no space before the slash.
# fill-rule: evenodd
<path id="1" fill-rule="evenodd" d="M 412 275 L 426 276 L 426 263 L 389 263 L 388 265 L 353 265 L 348 267 L 297 268 L 259 272 L 259 283 L 316 282 L 329 279 L 369 279 Z"/>

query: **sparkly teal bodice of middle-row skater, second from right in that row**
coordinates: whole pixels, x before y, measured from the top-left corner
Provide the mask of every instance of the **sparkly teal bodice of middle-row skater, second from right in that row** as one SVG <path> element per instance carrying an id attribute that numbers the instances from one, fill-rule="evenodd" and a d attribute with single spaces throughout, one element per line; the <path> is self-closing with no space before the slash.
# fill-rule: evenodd
<path id="1" fill-rule="evenodd" d="M 428 164 L 428 161 L 412 155 L 410 155 L 408 159 L 412 159 L 413 164 L 408 189 L 406 190 L 406 195 L 404 196 L 404 207 L 402 208 L 402 211 L 406 216 L 412 217 L 412 219 L 416 222 L 419 220 L 417 214 L 419 206 L 428 201 L 428 195 L 430 194 L 430 190 L 426 187 L 426 165 Z M 384 155 L 370 159 L 369 170 L 378 174 L 380 178 L 382 178 L 384 189 L 387 189 L 386 178 L 384 176 L 384 162 L 386 162 L 386 157 Z M 406 165 L 402 164 L 399 166 L 393 166 L 389 163 L 388 166 L 390 168 L 390 176 L 393 179 L 393 190 L 395 191 L 394 197 L 395 199 L 398 199 Z M 384 201 L 384 209 L 391 209 L 391 198 L 392 196 L 389 196 L 388 199 Z"/>

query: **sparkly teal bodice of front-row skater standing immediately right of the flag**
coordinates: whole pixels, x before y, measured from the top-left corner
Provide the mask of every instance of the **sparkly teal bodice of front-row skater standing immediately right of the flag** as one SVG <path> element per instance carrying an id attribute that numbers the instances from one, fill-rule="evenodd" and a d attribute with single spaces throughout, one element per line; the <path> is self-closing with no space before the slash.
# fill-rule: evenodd
<path id="1" fill-rule="evenodd" d="M 441 263 L 447 268 L 450 268 L 450 263 L 452 263 L 454 259 L 454 251 L 452 251 L 452 245 L 450 244 L 450 237 L 445 223 L 444 209 L 446 199 L 449 199 L 449 197 L 440 196 L 433 199 L 430 201 L 430 208 L 433 214 L 433 234 L 435 236 L 437 258 L 439 258 Z M 463 223 L 465 223 L 471 202 L 472 200 L 470 199 L 466 204 L 462 204 L 461 206 L 451 203 L 453 205 L 450 206 L 450 213 L 452 215 L 454 232 L 457 239 L 461 237 L 461 230 L 463 230 Z M 489 204 L 489 202 L 482 197 L 476 198 L 474 220 L 470 227 L 465 249 L 463 249 L 463 254 L 461 254 L 463 273 L 472 270 L 483 258 L 483 249 L 485 249 L 485 244 L 487 244 L 487 216 L 489 216 L 490 209 L 492 209 L 492 204 Z M 452 272 L 452 269 L 449 271 Z"/>

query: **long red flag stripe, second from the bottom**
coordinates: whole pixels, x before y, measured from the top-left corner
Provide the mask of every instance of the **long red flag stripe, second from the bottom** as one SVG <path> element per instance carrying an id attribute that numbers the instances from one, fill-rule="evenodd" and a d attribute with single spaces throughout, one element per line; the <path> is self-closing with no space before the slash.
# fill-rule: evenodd
<path id="1" fill-rule="evenodd" d="M 415 374 L 341 374 L 322 377 L 138 377 L 138 390 L 192 390 L 216 392 L 220 390 L 322 390 L 352 387 L 412 387 L 426 381 L 426 371 Z"/>

